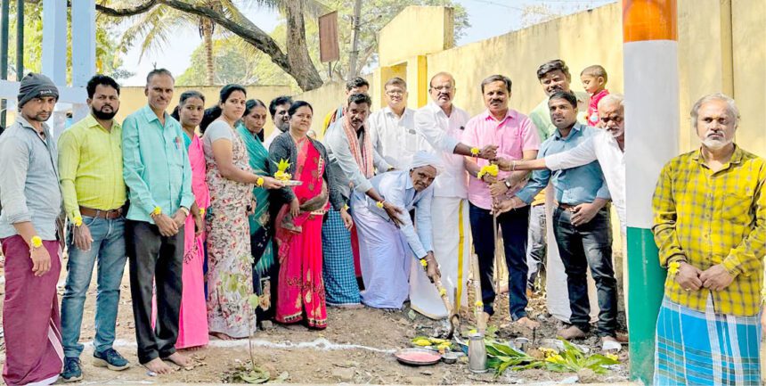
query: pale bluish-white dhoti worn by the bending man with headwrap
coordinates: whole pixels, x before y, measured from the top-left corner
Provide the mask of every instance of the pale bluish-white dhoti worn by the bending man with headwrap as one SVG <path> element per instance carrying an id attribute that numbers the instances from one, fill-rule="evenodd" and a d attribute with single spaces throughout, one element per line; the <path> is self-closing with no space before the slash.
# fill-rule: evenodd
<path id="1" fill-rule="evenodd" d="M 402 308 L 410 286 L 412 250 L 399 229 L 372 213 L 354 193 L 351 213 L 359 236 L 359 261 L 364 291 L 362 302 L 372 308 Z"/>

